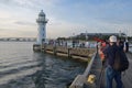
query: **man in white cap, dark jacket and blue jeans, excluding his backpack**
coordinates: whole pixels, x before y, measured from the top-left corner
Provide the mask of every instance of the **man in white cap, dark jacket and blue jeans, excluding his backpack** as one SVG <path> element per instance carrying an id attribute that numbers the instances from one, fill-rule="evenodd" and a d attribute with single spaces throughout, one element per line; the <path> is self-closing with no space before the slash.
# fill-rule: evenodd
<path id="1" fill-rule="evenodd" d="M 112 65 L 114 63 L 116 52 L 118 50 L 117 36 L 111 35 L 109 37 L 109 46 L 103 51 L 103 54 L 107 58 L 106 67 L 106 81 L 107 88 L 112 88 L 112 80 L 117 82 L 117 88 L 122 88 L 121 72 L 114 70 Z"/>

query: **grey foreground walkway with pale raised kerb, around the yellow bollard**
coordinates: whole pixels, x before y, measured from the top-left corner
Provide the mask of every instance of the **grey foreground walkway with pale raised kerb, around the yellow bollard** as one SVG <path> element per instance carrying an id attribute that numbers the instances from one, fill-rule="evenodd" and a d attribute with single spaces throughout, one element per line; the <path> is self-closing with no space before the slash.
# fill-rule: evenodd
<path id="1" fill-rule="evenodd" d="M 122 73 L 122 81 L 124 88 L 132 88 L 132 53 L 127 53 L 130 62 L 129 69 Z M 88 76 L 95 75 L 95 82 L 88 82 Z M 98 54 L 91 58 L 91 62 L 87 66 L 82 75 L 78 75 L 69 88 L 106 88 L 105 68 L 101 65 L 101 61 Z M 116 88 L 116 81 L 113 80 L 113 88 Z"/>

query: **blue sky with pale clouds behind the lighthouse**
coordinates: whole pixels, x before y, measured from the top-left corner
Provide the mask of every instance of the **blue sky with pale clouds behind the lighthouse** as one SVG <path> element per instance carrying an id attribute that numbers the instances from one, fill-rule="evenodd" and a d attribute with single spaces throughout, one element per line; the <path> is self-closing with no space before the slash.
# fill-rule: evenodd
<path id="1" fill-rule="evenodd" d="M 0 0 L 0 37 L 36 37 L 41 10 L 47 38 L 119 31 L 132 36 L 132 0 Z"/>

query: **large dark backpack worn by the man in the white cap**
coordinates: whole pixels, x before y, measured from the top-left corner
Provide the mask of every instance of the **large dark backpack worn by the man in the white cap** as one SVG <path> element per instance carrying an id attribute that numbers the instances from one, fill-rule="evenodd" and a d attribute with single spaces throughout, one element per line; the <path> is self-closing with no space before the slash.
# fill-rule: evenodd
<path id="1" fill-rule="evenodd" d="M 118 72 L 124 72 L 129 68 L 129 61 L 123 51 L 117 50 L 113 69 Z"/>

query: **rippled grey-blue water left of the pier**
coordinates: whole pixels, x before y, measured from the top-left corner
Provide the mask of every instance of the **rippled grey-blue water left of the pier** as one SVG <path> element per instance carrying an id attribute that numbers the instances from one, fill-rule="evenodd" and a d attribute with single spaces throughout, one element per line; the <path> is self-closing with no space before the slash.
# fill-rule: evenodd
<path id="1" fill-rule="evenodd" d="M 34 53 L 33 43 L 0 42 L 0 88 L 66 88 L 86 64 Z"/>

